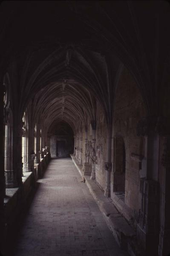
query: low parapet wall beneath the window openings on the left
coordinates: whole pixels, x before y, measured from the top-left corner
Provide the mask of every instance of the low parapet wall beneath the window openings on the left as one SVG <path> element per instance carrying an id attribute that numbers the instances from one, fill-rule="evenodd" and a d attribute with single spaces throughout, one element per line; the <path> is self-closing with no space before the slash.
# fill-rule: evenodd
<path id="1" fill-rule="evenodd" d="M 28 204 L 32 201 L 37 187 L 37 180 L 42 178 L 51 159 L 50 153 L 47 153 L 40 163 L 35 164 L 34 172 L 23 172 L 23 184 L 21 187 L 6 189 L 6 197 L 4 198 L 4 248 L 1 252 L 4 256 L 9 254 L 9 241 L 13 240 L 12 234 L 15 233 L 20 216 L 28 208 Z"/>

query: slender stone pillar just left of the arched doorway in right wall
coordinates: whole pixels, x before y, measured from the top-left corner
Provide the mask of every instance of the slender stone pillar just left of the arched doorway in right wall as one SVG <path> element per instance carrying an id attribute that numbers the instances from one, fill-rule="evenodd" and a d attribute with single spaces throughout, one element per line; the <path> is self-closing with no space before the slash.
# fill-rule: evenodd
<path id="1" fill-rule="evenodd" d="M 111 186 L 111 154 L 112 154 L 112 125 L 109 125 L 108 136 L 107 136 L 107 162 L 104 164 L 104 169 L 106 171 L 106 186 L 104 189 L 104 195 L 110 197 L 110 186 Z"/>

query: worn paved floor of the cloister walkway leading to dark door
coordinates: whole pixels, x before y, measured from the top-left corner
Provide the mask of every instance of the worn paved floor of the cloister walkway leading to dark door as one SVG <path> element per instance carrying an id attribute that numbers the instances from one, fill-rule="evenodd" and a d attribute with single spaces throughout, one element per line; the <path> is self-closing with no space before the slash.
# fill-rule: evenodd
<path id="1" fill-rule="evenodd" d="M 14 256 L 127 256 L 70 158 L 52 159 Z"/>

